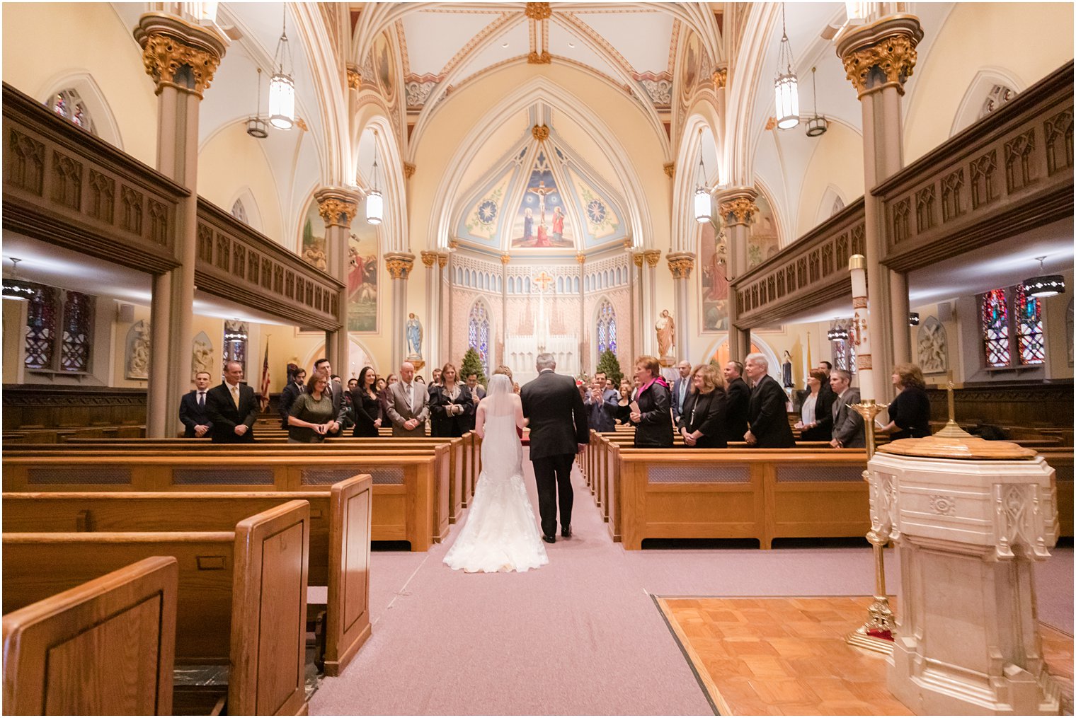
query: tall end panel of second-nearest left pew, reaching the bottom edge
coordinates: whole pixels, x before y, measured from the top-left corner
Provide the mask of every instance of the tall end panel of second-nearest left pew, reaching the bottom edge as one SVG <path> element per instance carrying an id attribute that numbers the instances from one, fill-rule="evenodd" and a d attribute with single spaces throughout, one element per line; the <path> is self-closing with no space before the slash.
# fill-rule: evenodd
<path id="1" fill-rule="evenodd" d="M 289 501 L 236 526 L 230 715 L 307 715 L 310 504 Z"/>

